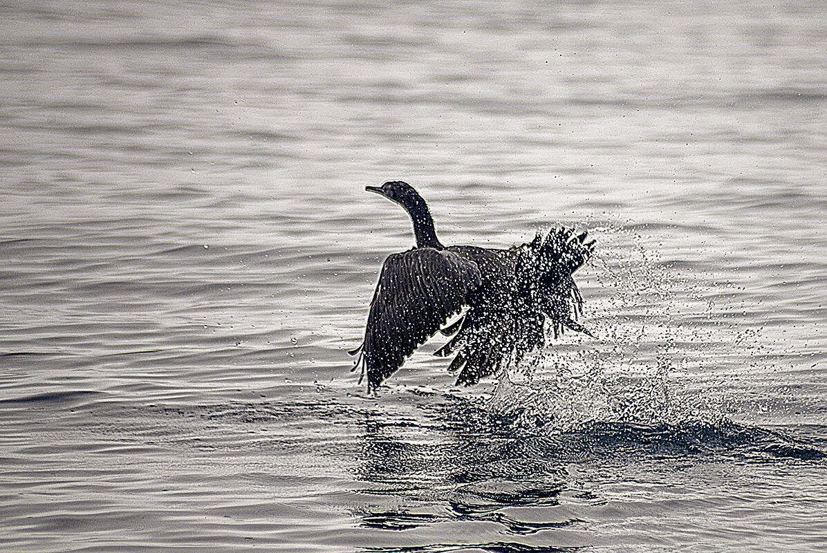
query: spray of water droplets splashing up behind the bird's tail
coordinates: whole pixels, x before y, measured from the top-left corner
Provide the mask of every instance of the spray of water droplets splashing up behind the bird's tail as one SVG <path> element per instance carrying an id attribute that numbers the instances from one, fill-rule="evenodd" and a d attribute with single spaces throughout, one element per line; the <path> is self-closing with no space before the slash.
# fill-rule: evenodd
<path id="1" fill-rule="evenodd" d="M 719 424 L 723 403 L 703 392 L 676 393 L 686 350 L 706 336 L 681 327 L 681 298 L 694 293 L 685 275 L 670 274 L 635 227 L 609 224 L 590 264 L 596 289 L 589 322 L 598 339 L 568 336 L 500 379 L 492 417 L 544 432 L 575 431 L 591 422 L 657 426 Z M 692 343 L 695 341 L 696 343 Z M 688 346 L 686 345 L 688 344 Z"/>

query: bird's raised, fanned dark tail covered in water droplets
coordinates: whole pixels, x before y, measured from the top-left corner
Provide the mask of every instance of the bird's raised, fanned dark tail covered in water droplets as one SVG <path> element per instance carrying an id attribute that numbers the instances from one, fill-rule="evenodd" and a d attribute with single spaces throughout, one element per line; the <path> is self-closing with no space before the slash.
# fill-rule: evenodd
<path id="1" fill-rule="evenodd" d="M 560 227 L 538 232 L 534 240 L 520 247 L 514 268 L 514 295 L 519 307 L 527 312 L 543 312 L 552 320 L 554 337 L 564 328 L 593 336 L 577 318 L 583 297 L 572 274 L 595 249 L 595 241 L 586 241 L 587 233 Z"/>

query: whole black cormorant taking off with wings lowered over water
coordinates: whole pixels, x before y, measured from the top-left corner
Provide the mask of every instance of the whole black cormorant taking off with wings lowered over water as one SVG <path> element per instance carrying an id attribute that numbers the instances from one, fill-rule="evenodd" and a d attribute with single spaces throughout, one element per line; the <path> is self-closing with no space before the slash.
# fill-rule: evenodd
<path id="1" fill-rule="evenodd" d="M 545 345 L 546 317 L 555 337 L 563 327 L 591 336 L 576 322 L 583 298 L 571 278 L 594 249 L 586 232 L 538 232 L 533 241 L 509 250 L 443 246 L 428 204 L 410 184 L 394 180 L 365 189 L 404 207 L 416 237 L 414 248 L 385 260 L 365 340 L 349 352 L 361 350 L 353 369 L 361 364 L 369 392 L 466 306 L 457 322 L 442 328 L 445 336 L 455 336 L 434 353 L 457 354 L 448 367 L 461 370 L 457 384 L 476 384 Z"/>

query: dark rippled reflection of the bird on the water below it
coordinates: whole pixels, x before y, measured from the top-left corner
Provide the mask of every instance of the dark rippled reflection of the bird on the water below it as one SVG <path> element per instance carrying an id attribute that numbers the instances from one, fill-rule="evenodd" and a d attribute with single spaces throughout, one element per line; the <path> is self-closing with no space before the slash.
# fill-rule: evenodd
<path id="1" fill-rule="evenodd" d="M 365 483 L 359 492 L 375 498 L 373 508 L 357 513 L 361 526 L 406 531 L 476 522 L 475 536 L 523 536 L 519 543 L 476 543 L 477 551 L 572 551 L 523 543 L 527 536 L 582 522 L 558 512 L 569 476 L 559 460 L 540 455 L 541 436 L 517 435 L 481 402 L 428 399 L 418 404 L 425 417 L 369 412 L 361 419 L 356 478 Z M 465 527 L 461 533 L 468 532 Z M 457 545 L 371 551 L 457 551 Z"/>

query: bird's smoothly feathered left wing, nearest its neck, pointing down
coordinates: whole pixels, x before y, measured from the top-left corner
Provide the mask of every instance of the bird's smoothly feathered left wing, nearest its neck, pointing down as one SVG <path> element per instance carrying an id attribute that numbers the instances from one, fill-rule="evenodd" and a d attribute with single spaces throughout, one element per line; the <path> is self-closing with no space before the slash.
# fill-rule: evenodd
<path id="1" fill-rule="evenodd" d="M 353 367 L 363 363 L 368 390 L 394 374 L 480 284 L 476 263 L 452 251 L 414 248 L 389 255 L 370 302 L 361 356 Z"/>

